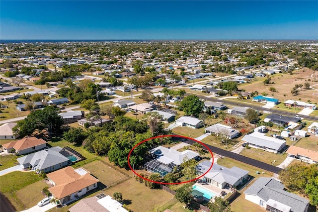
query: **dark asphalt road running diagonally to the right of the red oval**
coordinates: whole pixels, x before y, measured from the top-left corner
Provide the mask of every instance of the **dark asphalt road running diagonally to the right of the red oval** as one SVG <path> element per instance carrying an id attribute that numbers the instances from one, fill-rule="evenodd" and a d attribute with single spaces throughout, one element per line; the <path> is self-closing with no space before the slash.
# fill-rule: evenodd
<path id="1" fill-rule="evenodd" d="M 182 142 L 191 144 L 191 145 L 193 143 L 195 143 L 195 141 L 190 140 L 190 139 L 183 139 L 183 138 L 177 138 L 177 137 L 175 137 L 175 138 L 180 140 L 180 141 L 182 141 Z M 211 146 L 209 144 L 206 144 L 206 145 L 211 149 L 211 151 L 213 153 L 222 155 L 224 157 L 229 157 L 229 158 L 232 158 L 234 160 L 238 160 L 240 162 L 243 162 L 243 163 L 258 167 L 260 169 L 264 169 L 264 170 L 269 171 L 269 172 L 273 172 L 275 174 L 278 174 L 278 172 L 280 172 L 282 170 L 279 167 L 272 166 L 270 164 L 267 164 L 267 163 L 264 163 L 264 162 L 261 162 L 261 161 L 258 161 L 258 160 L 254 160 L 252 158 L 248 158 L 248 157 L 245 157 L 243 155 L 240 155 L 240 154 L 237 154 L 237 153 L 234 153 L 234 152 L 230 152 L 230 151 L 227 151 L 227 150 L 224 150 L 224 149 L 220 149 L 218 147 Z"/>

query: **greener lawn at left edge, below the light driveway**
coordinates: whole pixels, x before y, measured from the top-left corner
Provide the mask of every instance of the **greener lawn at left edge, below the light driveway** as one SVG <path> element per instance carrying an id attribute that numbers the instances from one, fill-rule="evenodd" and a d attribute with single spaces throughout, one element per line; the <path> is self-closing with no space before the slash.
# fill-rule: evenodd
<path id="1" fill-rule="evenodd" d="M 41 180 L 42 178 L 35 175 L 34 172 L 11 172 L 1 176 L 0 191 L 8 198 L 16 211 L 22 211 L 25 208 L 21 200 L 17 197 L 16 192 Z"/>

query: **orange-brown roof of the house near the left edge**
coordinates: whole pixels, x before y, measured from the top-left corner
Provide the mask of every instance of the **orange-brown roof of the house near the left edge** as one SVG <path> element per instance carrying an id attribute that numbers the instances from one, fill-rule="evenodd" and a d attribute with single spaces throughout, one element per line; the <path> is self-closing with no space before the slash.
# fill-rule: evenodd
<path id="1" fill-rule="evenodd" d="M 45 144 L 45 143 L 46 143 L 46 141 L 43 140 L 42 138 L 38 139 L 36 137 L 24 137 L 20 140 L 3 144 L 2 146 L 6 149 L 13 147 L 15 150 L 21 151 L 23 149 L 28 149 L 28 148 L 31 148 L 33 146 L 38 146 L 38 145 Z"/>

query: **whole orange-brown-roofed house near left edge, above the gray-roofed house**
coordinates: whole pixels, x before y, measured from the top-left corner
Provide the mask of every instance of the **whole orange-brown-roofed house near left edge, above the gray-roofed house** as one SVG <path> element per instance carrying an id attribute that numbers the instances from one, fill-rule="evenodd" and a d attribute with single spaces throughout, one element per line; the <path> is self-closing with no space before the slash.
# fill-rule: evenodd
<path id="1" fill-rule="evenodd" d="M 10 153 L 12 149 L 20 155 L 35 152 L 46 148 L 46 141 L 42 138 L 36 137 L 24 137 L 17 141 L 12 141 L 10 143 L 5 143 L 2 145 L 4 151 Z"/>

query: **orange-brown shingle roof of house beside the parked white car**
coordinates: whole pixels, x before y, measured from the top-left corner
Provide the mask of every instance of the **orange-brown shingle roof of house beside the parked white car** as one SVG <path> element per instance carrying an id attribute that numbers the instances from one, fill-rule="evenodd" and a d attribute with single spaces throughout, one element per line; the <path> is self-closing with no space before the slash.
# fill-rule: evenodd
<path id="1" fill-rule="evenodd" d="M 49 188 L 49 191 L 58 199 L 69 196 L 99 182 L 99 180 L 91 176 L 88 171 L 86 171 L 85 174 L 80 175 L 71 166 L 49 173 L 47 174 L 47 177 L 56 184 L 56 186 Z"/>

